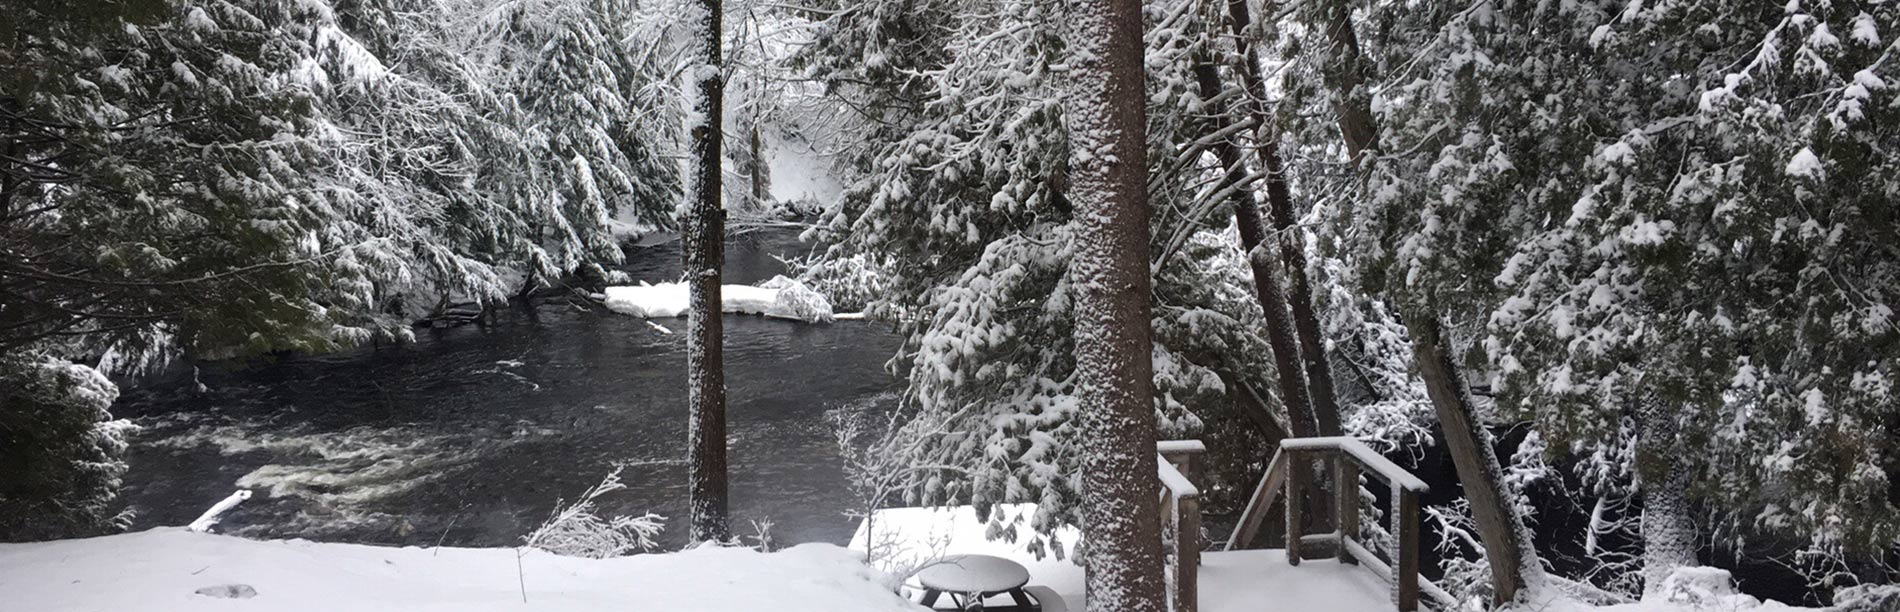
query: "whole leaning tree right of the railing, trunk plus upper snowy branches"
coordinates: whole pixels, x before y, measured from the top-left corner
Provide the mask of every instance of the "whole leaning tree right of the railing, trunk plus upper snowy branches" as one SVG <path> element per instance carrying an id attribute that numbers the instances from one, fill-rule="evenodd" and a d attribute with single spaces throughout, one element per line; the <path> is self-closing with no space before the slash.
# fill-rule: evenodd
<path id="1" fill-rule="evenodd" d="M 1378 19 L 1381 32 L 1391 34 L 1389 23 L 1398 23 L 1400 27 L 1412 25 L 1417 30 L 1402 30 L 1391 34 L 1393 40 L 1417 44 L 1417 40 L 1433 40 L 1431 44 L 1421 44 L 1417 48 L 1395 44 L 1389 51 L 1393 63 L 1408 65 L 1412 57 L 1408 53 L 1442 51 L 1436 48 L 1434 38 L 1438 32 L 1433 30 L 1433 19 L 1442 19 L 1448 11 L 1442 8 L 1398 8 L 1398 6 L 1379 6 L 1383 11 L 1374 11 L 1372 19 Z M 1484 11 L 1486 6 L 1474 8 L 1474 11 Z M 1360 281 L 1360 291 L 1379 295 L 1400 312 L 1404 321 L 1406 336 L 1412 344 L 1412 363 L 1425 384 L 1425 392 L 1431 399 L 1434 414 L 1444 431 L 1446 447 L 1457 464 L 1459 481 L 1465 487 L 1465 498 L 1469 500 L 1471 517 L 1476 525 L 1482 544 L 1486 549 L 1490 564 L 1490 589 L 1497 602 L 1512 601 L 1520 595 L 1520 589 L 1535 591 L 1543 582 L 1543 566 L 1537 561 L 1537 551 L 1531 544 L 1531 534 L 1526 528 L 1526 519 L 1518 511 L 1512 496 L 1514 492 L 1505 487 L 1501 466 L 1497 454 L 1492 447 L 1490 431 L 1486 430 L 1484 414 L 1478 411 L 1478 403 L 1471 392 L 1471 384 L 1465 374 L 1461 350 L 1469 342 L 1461 342 L 1455 336 L 1457 329 L 1448 327 L 1446 317 L 1457 317 L 1459 314 L 1469 314 L 1467 304 L 1461 304 L 1463 291 L 1455 281 L 1465 277 L 1469 264 L 1478 264 L 1482 270 L 1482 255 L 1472 255 L 1461 251 L 1461 245 L 1448 243 L 1442 236 L 1433 234 L 1436 222 L 1429 217 L 1416 220 L 1410 217 L 1414 211 L 1402 201 L 1393 198 L 1393 192 L 1410 188 L 1417 192 L 1429 192 L 1436 184 L 1436 175 L 1406 175 L 1406 171 L 1393 173 L 1387 165 L 1404 167 L 1406 163 L 1419 163 L 1425 156 L 1385 156 L 1372 158 L 1372 154 L 1393 143 L 1412 143 L 1423 139 L 1425 144 L 1433 144 L 1434 131 L 1419 129 L 1417 125 L 1406 124 L 1414 120 L 1419 124 L 1434 120 L 1429 112 L 1417 112 L 1416 108 L 1398 108 L 1400 120 L 1391 122 L 1381 118 L 1376 110 L 1378 99 L 1370 93 L 1376 89 L 1366 86 L 1366 49 L 1360 46 L 1355 25 L 1351 23 L 1351 8 L 1340 2 L 1317 2 L 1300 8 L 1300 17 L 1303 29 L 1296 34 L 1296 40 L 1319 38 L 1309 42 L 1319 49 L 1317 68 L 1313 72 L 1322 74 L 1326 87 L 1313 91 L 1311 86 L 1294 86 L 1292 89 L 1303 89 L 1307 101 L 1296 93 L 1294 108 L 1302 108 L 1303 103 L 1311 99 L 1326 101 L 1330 106 L 1332 131 L 1338 135 L 1338 144 L 1330 146 L 1330 154 L 1343 158 L 1345 167 L 1345 186 L 1336 188 L 1336 192 L 1345 194 L 1349 201 L 1340 207 L 1343 215 L 1336 220 L 1332 232 L 1338 236 L 1341 245 L 1341 258 L 1349 262 L 1355 270 L 1355 277 Z M 1315 36 L 1317 34 L 1317 36 Z M 1408 38 L 1412 36 L 1412 38 Z M 1455 61 L 1455 59 L 1454 59 Z M 1393 72 L 1402 72 L 1398 68 L 1389 70 L 1385 76 L 1393 78 Z M 1402 103 L 1400 103 L 1402 105 Z M 1414 116 L 1404 116 L 1406 112 L 1417 112 Z M 1442 118 L 1440 118 L 1442 120 Z M 1412 129 L 1412 131 L 1408 131 Z M 1391 160 L 1391 163 L 1387 163 Z M 1370 175 L 1364 175 L 1370 165 Z M 1416 169 L 1408 169 L 1416 171 Z M 1370 181 L 1368 181 L 1370 179 Z M 1395 182 L 1404 182 L 1404 186 L 1395 188 Z M 1467 194 L 1450 196 L 1448 200 L 1461 200 Z M 1482 194 L 1480 194 L 1482 198 Z M 1387 215 L 1381 222 L 1368 222 L 1370 215 Z M 1385 220 L 1391 219 L 1391 220 Z M 1400 243 L 1402 251 L 1412 251 L 1404 255 L 1391 255 L 1389 245 Z M 1444 253 L 1454 251 L 1454 257 L 1442 260 L 1419 260 L 1414 253 Z M 1463 258 L 1457 258 L 1463 257 Z M 1396 260 L 1396 262 L 1395 262 Z M 1444 285 L 1417 283 L 1419 270 L 1427 266 L 1438 266 L 1431 272 L 1434 277 L 1446 279 Z M 1393 268 L 1404 268 L 1404 276 L 1396 276 Z M 1455 319 L 1454 319 L 1455 321 Z"/>

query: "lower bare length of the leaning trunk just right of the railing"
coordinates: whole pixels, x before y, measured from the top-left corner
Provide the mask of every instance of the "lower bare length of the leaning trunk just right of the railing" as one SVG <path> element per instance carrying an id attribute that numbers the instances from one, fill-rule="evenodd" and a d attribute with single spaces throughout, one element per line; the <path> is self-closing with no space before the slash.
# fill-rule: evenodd
<path id="1" fill-rule="evenodd" d="M 1531 549 L 1524 519 L 1507 498 L 1497 450 L 1492 449 L 1492 437 L 1476 418 L 1471 388 L 1452 361 L 1450 342 L 1438 327 L 1436 312 L 1419 308 L 1406 317 L 1406 329 L 1412 333 L 1412 355 L 1419 363 L 1419 376 L 1425 378 L 1425 392 L 1438 412 L 1438 426 L 1444 428 L 1444 445 L 1457 466 L 1457 481 L 1471 500 L 1471 517 L 1484 540 L 1484 557 L 1492 561 L 1493 595 L 1497 602 L 1512 601 L 1524 587 L 1524 574 L 1541 572 L 1535 566 L 1537 551 Z"/>

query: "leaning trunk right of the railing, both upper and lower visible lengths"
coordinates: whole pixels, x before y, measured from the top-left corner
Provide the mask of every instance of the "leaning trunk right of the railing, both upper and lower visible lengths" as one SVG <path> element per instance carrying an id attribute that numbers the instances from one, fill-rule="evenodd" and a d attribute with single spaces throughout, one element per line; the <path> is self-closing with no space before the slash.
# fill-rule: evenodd
<path id="1" fill-rule="evenodd" d="M 1319 11 L 1309 11 L 1309 23 L 1328 38 L 1328 61 L 1322 70 L 1326 84 L 1338 97 L 1334 114 L 1340 135 L 1355 167 L 1364 169 L 1372 152 L 1379 148 L 1379 125 L 1372 114 L 1372 95 L 1364 89 L 1366 55 L 1358 48 L 1358 34 L 1353 30 L 1353 6 L 1345 0 L 1326 0 Z M 1497 452 L 1490 445 L 1484 424 L 1478 422 L 1471 388 L 1452 361 L 1450 342 L 1438 323 L 1438 310 L 1431 296 L 1423 308 L 1406 317 L 1406 331 L 1412 335 L 1412 354 L 1419 363 L 1419 378 L 1431 395 L 1433 411 L 1444 428 L 1446 447 L 1457 466 L 1459 485 L 1471 500 L 1472 519 L 1478 523 L 1478 538 L 1492 564 L 1492 587 L 1497 602 L 1512 601 L 1524 587 L 1526 576 L 1541 576 L 1543 564 L 1531 545 L 1524 517 L 1503 488 L 1503 468 Z"/>

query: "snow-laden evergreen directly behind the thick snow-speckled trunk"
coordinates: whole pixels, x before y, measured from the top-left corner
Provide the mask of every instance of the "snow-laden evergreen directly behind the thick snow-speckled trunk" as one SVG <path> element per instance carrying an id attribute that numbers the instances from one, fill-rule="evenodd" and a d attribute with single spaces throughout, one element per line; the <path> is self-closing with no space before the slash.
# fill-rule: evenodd
<path id="1" fill-rule="evenodd" d="M 819 8 L 825 10 L 825 8 Z M 1022 2 L 853 4 L 800 57 L 861 118 L 840 146 L 861 177 L 811 234 L 834 262 L 878 258 L 882 304 L 908 314 L 893 365 L 920 416 L 914 502 L 1037 502 L 1041 528 L 1079 523 L 1074 209 L 1060 129 L 1062 46 L 1053 8 Z M 1195 84 L 1206 2 L 1148 6 L 1148 143 L 1155 411 L 1163 437 L 1201 414 L 1243 418 L 1222 378 L 1269 390 L 1271 354 Z M 1235 86 L 1237 89 L 1237 86 Z M 1237 93 L 1226 93 L 1237 95 Z M 1277 395 L 1267 401 L 1277 407 Z M 1208 437 L 1256 462 L 1252 428 Z M 1243 462 L 1231 464 L 1233 468 Z M 1235 481 L 1244 477 L 1235 477 Z"/>

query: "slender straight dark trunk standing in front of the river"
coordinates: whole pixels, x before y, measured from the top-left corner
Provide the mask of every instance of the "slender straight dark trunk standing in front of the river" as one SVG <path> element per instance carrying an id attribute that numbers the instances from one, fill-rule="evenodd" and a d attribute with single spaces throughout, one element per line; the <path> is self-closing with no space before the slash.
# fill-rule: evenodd
<path id="1" fill-rule="evenodd" d="M 720 0 L 699 0 L 705 11 L 699 57 L 688 70 L 688 91 L 697 89 L 692 125 L 694 156 L 688 163 L 686 198 L 692 211 L 680 238 L 684 241 L 690 310 L 686 314 L 686 405 L 688 405 L 688 526 L 692 542 L 730 538 L 726 521 L 726 363 L 724 321 L 720 319 L 720 266 L 724 264 L 726 209 L 720 190 Z"/>

